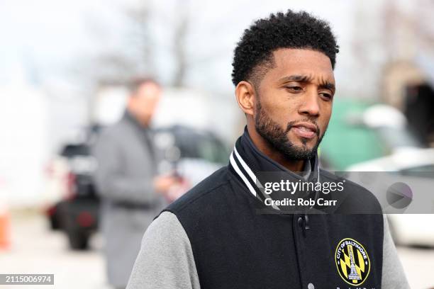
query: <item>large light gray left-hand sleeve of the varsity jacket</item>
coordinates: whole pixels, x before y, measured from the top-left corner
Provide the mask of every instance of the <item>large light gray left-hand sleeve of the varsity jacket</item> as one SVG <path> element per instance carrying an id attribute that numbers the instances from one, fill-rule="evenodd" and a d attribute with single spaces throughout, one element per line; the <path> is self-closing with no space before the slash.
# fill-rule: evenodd
<path id="1" fill-rule="evenodd" d="M 176 215 L 162 212 L 145 232 L 127 289 L 200 289 L 193 251 Z"/>

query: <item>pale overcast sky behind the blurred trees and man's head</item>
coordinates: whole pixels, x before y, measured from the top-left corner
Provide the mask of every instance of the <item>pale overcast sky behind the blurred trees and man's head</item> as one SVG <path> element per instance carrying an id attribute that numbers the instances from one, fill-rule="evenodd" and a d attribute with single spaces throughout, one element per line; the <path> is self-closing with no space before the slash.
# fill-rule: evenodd
<path id="1" fill-rule="evenodd" d="M 400 1 L 409 3 L 409 1 Z M 35 83 L 68 83 L 68 69 L 104 51 L 126 50 L 124 11 L 135 0 L 0 0 L 0 84 L 26 77 Z M 384 1 L 183 1 L 189 6 L 190 23 L 187 55 L 194 65 L 187 74 L 187 85 L 228 94 L 233 48 L 243 30 L 255 18 L 287 8 L 306 10 L 329 21 L 338 37 L 335 76 L 338 92 L 373 94 L 377 83 L 375 69 L 367 74 L 369 63 L 361 67 L 355 59 L 354 41 L 369 34 L 365 58 L 381 60 L 378 45 L 380 11 Z M 173 72 L 170 54 L 170 21 L 177 13 L 177 1 L 150 1 L 152 39 L 156 44 L 155 62 L 163 82 Z M 377 32 L 376 32 L 377 31 Z M 358 35 L 360 34 L 360 35 Z M 366 35 L 365 35 L 366 37 Z M 375 68 L 375 67 L 374 67 Z M 372 85 L 367 86 L 367 81 Z"/>

